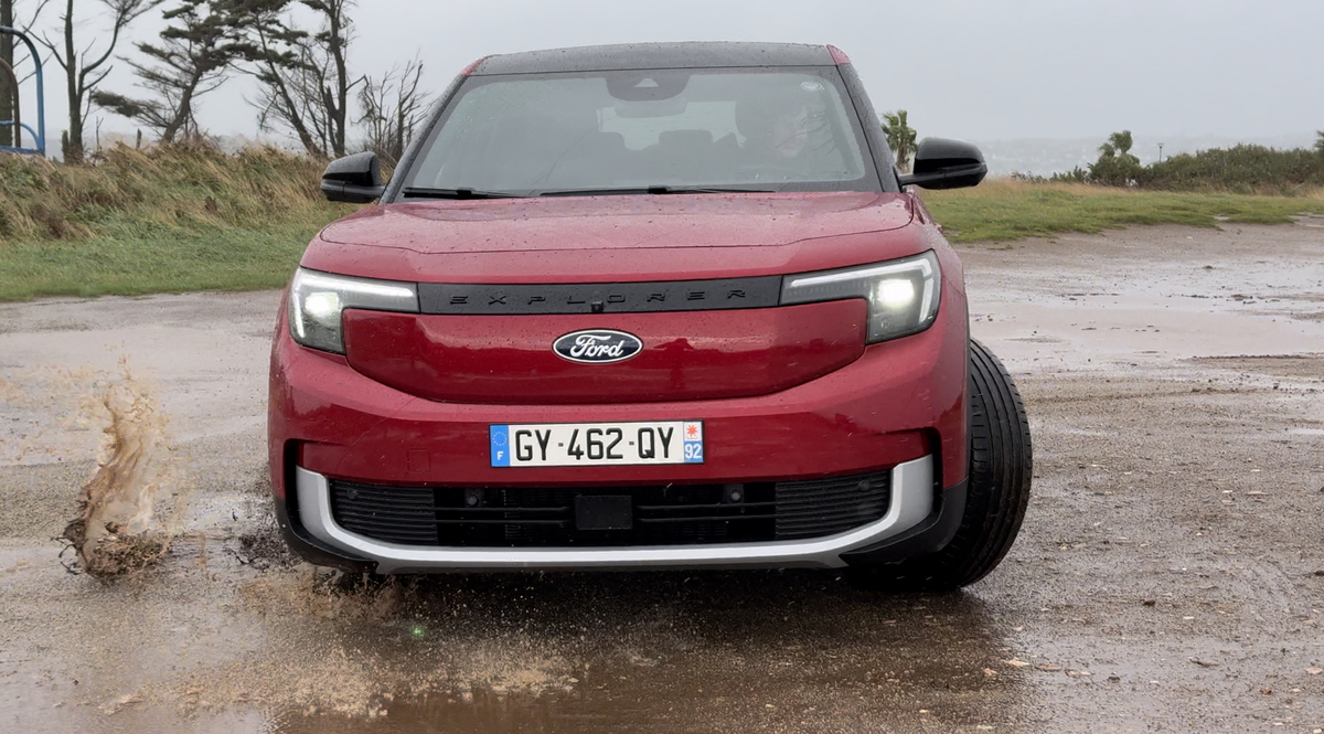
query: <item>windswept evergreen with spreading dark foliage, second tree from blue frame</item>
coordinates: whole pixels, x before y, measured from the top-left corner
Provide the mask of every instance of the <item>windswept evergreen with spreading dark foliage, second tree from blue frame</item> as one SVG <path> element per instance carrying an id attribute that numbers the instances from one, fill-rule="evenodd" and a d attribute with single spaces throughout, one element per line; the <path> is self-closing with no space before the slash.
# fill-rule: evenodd
<path id="1" fill-rule="evenodd" d="M 98 90 L 91 101 L 136 119 L 155 130 L 163 143 L 172 143 L 199 135 L 197 98 L 225 81 L 240 44 L 224 0 L 183 0 L 164 19 L 172 24 L 162 30 L 160 45 L 138 44 L 148 62 L 128 62 L 138 86 L 151 97 L 135 99 Z"/>

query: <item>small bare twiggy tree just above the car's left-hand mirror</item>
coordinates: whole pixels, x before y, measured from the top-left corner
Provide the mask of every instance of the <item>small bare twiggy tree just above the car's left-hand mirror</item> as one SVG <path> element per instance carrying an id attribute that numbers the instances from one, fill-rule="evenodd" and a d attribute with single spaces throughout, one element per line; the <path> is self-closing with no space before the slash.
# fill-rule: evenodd
<path id="1" fill-rule="evenodd" d="M 359 89 L 361 114 L 356 122 L 367 135 L 363 147 L 376 151 L 391 166 L 405 154 L 405 143 L 426 111 L 428 95 L 418 90 L 421 81 L 422 61 L 414 58 L 380 79 L 364 77 Z"/>

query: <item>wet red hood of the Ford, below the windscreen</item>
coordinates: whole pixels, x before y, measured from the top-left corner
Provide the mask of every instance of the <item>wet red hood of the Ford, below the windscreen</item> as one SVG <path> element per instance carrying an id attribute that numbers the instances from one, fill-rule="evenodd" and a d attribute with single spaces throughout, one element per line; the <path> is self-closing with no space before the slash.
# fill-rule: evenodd
<path id="1" fill-rule="evenodd" d="M 302 265 L 430 282 L 688 280 L 805 272 L 925 249 L 904 193 L 420 201 L 327 227 Z M 911 228 L 915 229 L 915 228 Z"/>

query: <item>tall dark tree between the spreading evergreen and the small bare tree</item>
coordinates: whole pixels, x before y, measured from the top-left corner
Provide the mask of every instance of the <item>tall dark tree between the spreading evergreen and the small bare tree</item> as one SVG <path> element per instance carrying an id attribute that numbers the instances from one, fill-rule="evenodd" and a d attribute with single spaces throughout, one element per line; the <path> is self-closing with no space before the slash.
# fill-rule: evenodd
<path id="1" fill-rule="evenodd" d="M 351 93 L 363 83 L 348 65 L 354 0 L 232 0 L 246 30 L 245 58 L 261 91 L 254 101 L 263 130 L 286 130 L 315 156 L 347 152 Z M 289 9 L 303 5 L 316 32 L 294 25 Z"/>

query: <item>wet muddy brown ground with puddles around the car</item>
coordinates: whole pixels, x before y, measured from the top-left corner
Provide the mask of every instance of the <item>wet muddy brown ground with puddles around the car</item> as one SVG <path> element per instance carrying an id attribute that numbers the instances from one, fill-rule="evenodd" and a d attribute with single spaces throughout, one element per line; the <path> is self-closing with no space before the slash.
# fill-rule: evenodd
<path id="1" fill-rule="evenodd" d="M 277 294 L 0 306 L 0 730 L 1321 731 L 1324 223 L 963 258 L 1035 480 L 1006 562 L 947 596 L 830 572 L 347 590 L 271 542 Z M 166 558 L 102 582 L 52 538 L 115 386 L 159 401 L 154 481 L 188 509 Z"/>

